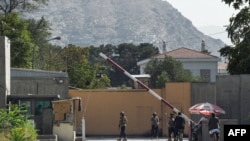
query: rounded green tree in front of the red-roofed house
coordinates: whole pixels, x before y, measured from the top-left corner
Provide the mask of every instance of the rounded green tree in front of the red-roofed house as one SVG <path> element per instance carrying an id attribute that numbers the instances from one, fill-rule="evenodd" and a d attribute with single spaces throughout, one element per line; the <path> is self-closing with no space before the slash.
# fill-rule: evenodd
<path id="1" fill-rule="evenodd" d="M 166 82 L 194 81 L 192 74 L 183 69 L 182 63 L 169 56 L 163 60 L 152 59 L 146 65 L 145 73 L 151 76 L 150 86 L 153 88 L 162 88 Z"/>

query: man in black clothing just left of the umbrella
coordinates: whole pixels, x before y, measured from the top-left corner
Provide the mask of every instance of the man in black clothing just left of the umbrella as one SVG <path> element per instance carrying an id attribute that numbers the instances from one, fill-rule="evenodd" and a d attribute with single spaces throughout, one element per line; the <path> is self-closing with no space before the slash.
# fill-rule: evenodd
<path id="1" fill-rule="evenodd" d="M 182 141 L 183 139 L 183 131 L 185 127 L 185 119 L 182 117 L 181 112 L 178 112 L 178 115 L 175 117 L 174 120 L 174 128 L 175 128 L 175 140 Z"/>

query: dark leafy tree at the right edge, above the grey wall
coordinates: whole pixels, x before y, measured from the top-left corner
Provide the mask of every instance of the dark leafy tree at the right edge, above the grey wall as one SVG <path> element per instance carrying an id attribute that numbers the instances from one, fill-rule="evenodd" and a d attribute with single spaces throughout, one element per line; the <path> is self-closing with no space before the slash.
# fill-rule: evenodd
<path id="1" fill-rule="evenodd" d="M 250 73 L 250 7 L 249 0 L 222 0 L 240 10 L 229 19 L 227 26 L 228 37 L 234 46 L 225 46 L 219 50 L 221 56 L 228 59 L 228 72 L 230 74 Z"/>

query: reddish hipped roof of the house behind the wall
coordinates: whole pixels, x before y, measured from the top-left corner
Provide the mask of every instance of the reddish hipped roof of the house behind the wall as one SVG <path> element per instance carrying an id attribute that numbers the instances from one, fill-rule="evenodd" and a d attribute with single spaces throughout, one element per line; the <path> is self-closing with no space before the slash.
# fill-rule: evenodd
<path id="1" fill-rule="evenodd" d="M 163 59 L 165 56 L 170 56 L 174 59 L 215 59 L 218 58 L 213 55 L 205 54 L 196 50 L 181 47 L 169 52 L 158 54 L 153 56 L 153 58 Z"/>

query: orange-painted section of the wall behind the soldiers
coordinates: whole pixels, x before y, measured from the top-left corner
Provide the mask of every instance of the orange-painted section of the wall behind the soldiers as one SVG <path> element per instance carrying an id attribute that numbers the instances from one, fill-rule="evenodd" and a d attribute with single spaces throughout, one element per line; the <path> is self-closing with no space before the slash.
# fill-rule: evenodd
<path id="1" fill-rule="evenodd" d="M 190 83 L 167 83 L 165 89 L 153 91 L 190 117 L 187 110 L 191 104 Z M 157 112 L 161 120 L 161 134 L 167 135 L 166 121 L 172 109 L 145 90 L 70 90 L 69 94 L 83 100 L 83 113 L 78 115 L 77 125 L 81 128 L 84 116 L 87 136 L 118 135 L 121 111 L 125 111 L 128 118 L 128 135 L 149 136 L 153 112 Z M 188 134 L 188 124 L 185 134 Z"/>

